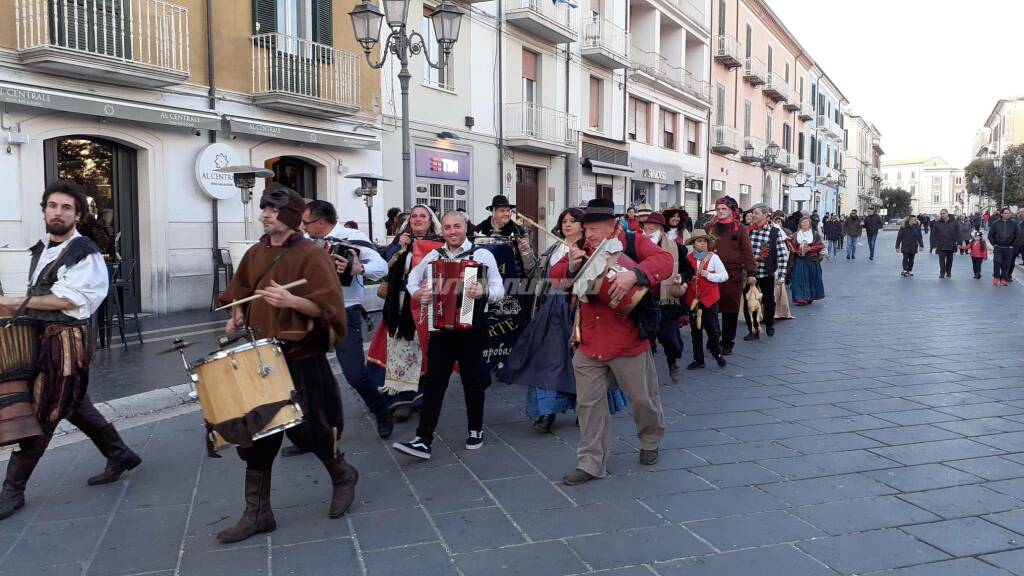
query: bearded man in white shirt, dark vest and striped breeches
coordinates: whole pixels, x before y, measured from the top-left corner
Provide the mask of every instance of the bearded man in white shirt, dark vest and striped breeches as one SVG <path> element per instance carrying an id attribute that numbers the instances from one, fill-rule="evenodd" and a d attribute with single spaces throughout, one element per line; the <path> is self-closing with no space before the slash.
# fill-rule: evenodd
<path id="1" fill-rule="evenodd" d="M 109 280 L 99 248 L 77 229 L 86 202 L 75 182 L 58 180 L 46 187 L 42 207 L 49 236 L 45 244 L 32 247 L 29 296 L 0 296 L 0 316 L 28 316 L 39 322 L 39 375 L 32 393 L 43 430 L 18 442 L 7 462 L 0 519 L 25 505 L 25 486 L 62 419 L 78 426 L 106 457 L 106 469 L 90 478 L 90 486 L 114 482 L 142 463 L 89 400 L 90 326 L 106 297 Z M 69 360 L 69 366 L 66 358 L 75 361 Z"/>

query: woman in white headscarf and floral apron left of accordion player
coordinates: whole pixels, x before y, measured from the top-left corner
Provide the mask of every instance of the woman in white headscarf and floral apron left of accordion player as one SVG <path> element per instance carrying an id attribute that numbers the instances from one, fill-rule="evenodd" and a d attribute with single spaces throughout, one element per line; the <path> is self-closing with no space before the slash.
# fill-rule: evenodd
<path id="1" fill-rule="evenodd" d="M 406 281 L 424 255 L 442 246 L 440 235 L 441 223 L 433 210 L 417 204 L 385 253 L 388 275 L 378 290 L 384 298 L 384 315 L 370 343 L 367 369 L 397 422 L 408 420 L 420 402 L 420 376 L 427 370 L 426 322 L 421 322 L 420 302 L 406 291 Z"/>

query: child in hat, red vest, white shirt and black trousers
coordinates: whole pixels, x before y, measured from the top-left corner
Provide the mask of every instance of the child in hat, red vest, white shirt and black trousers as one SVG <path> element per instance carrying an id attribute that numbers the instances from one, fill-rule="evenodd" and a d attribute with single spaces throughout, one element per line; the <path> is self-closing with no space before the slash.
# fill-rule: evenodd
<path id="1" fill-rule="evenodd" d="M 703 337 L 701 330 L 708 334 L 708 349 L 718 365 L 725 367 L 725 357 L 722 356 L 722 330 L 718 324 L 718 300 L 720 297 L 718 285 L 729 279 L 729 273 L 722 263 L 722 258 L 715 253 L 715 237 L 709 236 L 702 230 L 694 230 L 693 235 L 686 240 L 687 246 L 693 251 L 687 256 L 690 265 L 695 271 L 693 280 L 686 286 L 686 308 L 690 316 L 690 339 L 693 344 L 693 362 L 687 370 L 699 370 L 703 363 Z"/>

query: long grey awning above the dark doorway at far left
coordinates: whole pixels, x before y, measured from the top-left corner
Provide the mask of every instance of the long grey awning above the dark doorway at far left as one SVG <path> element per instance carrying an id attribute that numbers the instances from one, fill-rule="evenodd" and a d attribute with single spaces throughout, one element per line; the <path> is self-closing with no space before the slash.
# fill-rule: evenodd
<path id="1" fill-rule="evenodd" d="M 22 84 L 0 83 L 0 102 L 146 124 L 202 130 L 220 129 L 220 116 L 210 112 L 131 102 Z"/>

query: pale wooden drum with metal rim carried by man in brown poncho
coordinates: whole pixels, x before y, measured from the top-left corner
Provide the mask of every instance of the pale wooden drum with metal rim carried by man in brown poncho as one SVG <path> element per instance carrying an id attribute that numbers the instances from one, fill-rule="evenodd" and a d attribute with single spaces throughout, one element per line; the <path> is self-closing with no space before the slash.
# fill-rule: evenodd
<path id="1" fill-rule="evenodd" d="M 217 430 L 249 422 L 266 422 L 259 429 L 245 429 L 259 440 L 302 423 L 302 409 L 295 402 L 295 385 L 285 356 L 273 339 L 262 339 L 212 354 L 193 365 L 196 389 L 207 423 Z M 276 408 L 275 408 L 276 407 Z M 226 439 L 214 431 L 220 448 L 243 439 Z"/>

